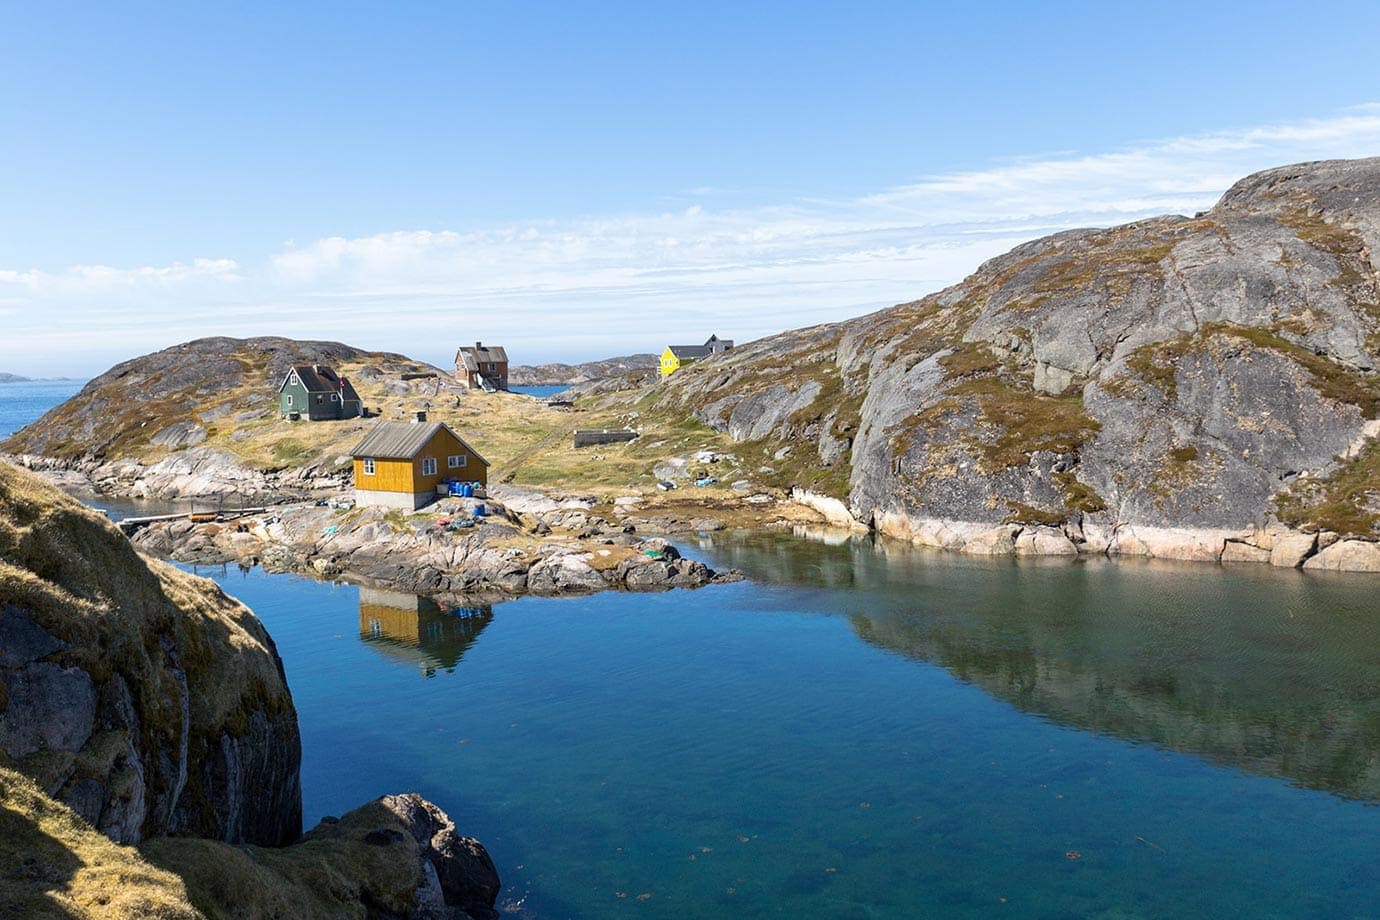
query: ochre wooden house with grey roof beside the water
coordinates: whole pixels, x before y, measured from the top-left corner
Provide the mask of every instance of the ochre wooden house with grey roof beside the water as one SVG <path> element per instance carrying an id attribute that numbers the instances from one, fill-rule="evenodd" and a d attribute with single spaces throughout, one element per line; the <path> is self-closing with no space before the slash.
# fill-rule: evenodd
<path id="1" fill-rule="evenodd" d="M 357 505 L 415 510 L 448 479 L 489 483 L 489 461 L 442 422 L 378 422 L 351 457 Z"/>

